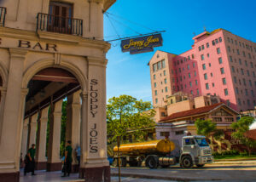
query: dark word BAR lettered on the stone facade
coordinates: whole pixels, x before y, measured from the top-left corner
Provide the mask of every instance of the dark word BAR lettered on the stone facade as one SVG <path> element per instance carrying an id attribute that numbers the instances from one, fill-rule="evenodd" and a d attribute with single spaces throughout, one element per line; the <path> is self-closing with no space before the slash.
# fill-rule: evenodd
<path id="1" fill-rule="evenodd" d="M 19 40 L 19 48 L 32 48 L 34 50 L 57 51 L 57 45 L 52 43 L 31 43 L 30 41 Z"/>

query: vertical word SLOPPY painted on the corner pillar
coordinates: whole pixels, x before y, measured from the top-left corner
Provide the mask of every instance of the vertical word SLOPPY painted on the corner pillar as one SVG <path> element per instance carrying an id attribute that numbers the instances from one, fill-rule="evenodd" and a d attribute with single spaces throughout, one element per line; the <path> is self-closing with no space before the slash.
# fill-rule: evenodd
<path id="1" fill-rule="evenodd" d="M 98 109 L 98 80 L 90 80 L 90 114 L 92 117 L 96 117 Z"/>

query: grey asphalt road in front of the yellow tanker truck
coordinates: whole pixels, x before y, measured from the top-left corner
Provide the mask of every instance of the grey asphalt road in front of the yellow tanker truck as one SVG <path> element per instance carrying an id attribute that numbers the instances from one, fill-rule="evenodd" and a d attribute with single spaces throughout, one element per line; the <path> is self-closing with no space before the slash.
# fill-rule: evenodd
<path id="1" fill-rule="evenodd" d="M 112 176 L 118 175 L 118 168 L 111 168 Z M 179 168 L 178 166 L 170 168 L 121 168 L 122 181 L 140 181 L 133 180 L 139 178 L 160 180 L 194 180 L 194 181 L 256 181 L 256 163 L 227 163 L 227 164 L 207 164 L 204 168 Z M 113 181 L 117 181 L 116 177 Z"/>

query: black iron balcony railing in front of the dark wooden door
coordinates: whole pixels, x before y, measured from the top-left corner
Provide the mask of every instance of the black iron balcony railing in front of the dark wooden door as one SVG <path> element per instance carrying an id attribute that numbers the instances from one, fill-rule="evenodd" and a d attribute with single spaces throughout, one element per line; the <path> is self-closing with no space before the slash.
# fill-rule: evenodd
<path id="1" fill-rule="evenodd" d="M 38 13 L 38 30 L 83 36 L 83 20 Z"/>

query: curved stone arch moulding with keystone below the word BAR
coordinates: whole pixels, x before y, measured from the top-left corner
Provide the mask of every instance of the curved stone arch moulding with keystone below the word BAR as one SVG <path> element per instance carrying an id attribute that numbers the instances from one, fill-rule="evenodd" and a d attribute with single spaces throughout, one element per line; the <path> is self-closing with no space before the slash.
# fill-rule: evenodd
<path id="1" fill-rule="evenodd" d="M 62 68 L 66 71 L 70 71 L 73 76 L 78 79 L 81 89 L 84 91 L 87 90 L 87 77 L 76 65 L 71 64 L 70 60 L 61 60 L 60 65 L 55 65 L 55 60 L 53 58 L 38 60 L 33 65 L 28 67 L 23 75 L 22 88 L 27 87 L 28 82 L 38 71 L 49 67 Z"/>

